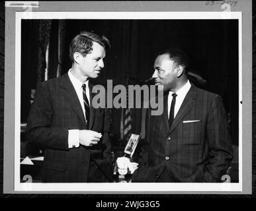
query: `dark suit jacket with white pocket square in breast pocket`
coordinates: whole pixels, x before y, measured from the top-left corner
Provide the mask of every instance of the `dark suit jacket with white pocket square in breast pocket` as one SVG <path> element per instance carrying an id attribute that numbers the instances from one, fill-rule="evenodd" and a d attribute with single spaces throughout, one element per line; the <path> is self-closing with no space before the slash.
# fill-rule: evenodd
<path id="1" fill-rule="evenodd" d="M 146 138 L 132 181 L 156 182 L 166 167 L 172 182 L 219 182 L 233 158 L 222 99 L 192 85 L 169 128 L 168 94 L 163 98 L 163 114 L 146 116 Z"/>

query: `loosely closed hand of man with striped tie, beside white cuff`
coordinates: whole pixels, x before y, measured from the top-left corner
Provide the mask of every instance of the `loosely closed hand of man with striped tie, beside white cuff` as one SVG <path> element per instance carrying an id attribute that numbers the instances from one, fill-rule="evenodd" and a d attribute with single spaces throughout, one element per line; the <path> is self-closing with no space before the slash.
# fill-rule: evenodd
<path id="1" fill-rule="evenodd" d="M 93 146 L 98 144 L 101 139 L 101 133 L 89 130 L 80 130 L 79 131 L 79 143 L 83 146 Z"/>

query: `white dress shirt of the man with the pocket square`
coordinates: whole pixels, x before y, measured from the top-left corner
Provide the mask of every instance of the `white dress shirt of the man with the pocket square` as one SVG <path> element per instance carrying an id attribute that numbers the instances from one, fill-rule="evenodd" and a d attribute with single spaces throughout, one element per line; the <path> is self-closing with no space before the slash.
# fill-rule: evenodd
<path id="1" fill-rule="evenodd" d="M 179 108 L 181 107 L 181 104 L 183 103 L 183 100 L 185 99 L 185 96 L 189 92 L 190 88 L 191 88 L 191 83 L 188 80 L 183 87 L 181 87 L 177 92 L 175 92 L 177 96 L 176 96 L 175 107 L 174 107 L 174 118 L 177 115 Z M 168 95 L 168 119 L 169 119 L 169 113 L 171 109 L 171 101 L 173 100 L 173 96 L 172 96 L 173 93 L 174 92 L 169 92 L 169 95 Z"/>

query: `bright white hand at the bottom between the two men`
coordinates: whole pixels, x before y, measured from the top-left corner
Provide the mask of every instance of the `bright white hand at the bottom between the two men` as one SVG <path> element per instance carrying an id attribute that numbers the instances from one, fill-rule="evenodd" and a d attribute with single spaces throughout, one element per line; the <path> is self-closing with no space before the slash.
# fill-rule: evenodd
<path id="1" fill-rule="evenodd" d="M 129 158 L 122 157 L 116 159 L 116 164 L 114 164 L 114 174 L 118 171 L 120 175 L 126 175 L 126 173 L 134 173 L 138 168 L 137 163 L 131 163 Z"/>

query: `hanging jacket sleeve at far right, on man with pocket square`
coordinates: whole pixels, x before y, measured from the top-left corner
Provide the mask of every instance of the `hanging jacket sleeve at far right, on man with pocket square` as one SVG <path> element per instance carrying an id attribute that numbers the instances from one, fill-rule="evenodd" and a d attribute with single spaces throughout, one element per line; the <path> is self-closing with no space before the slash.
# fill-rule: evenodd
<path id="1" fill-rule="evenodd" d="M 206 123 L 208 141 L 208 165 L 204 171 L 204 182 L 220 182 L 233 158 L 232 140 L 228 118 L 222 98 L 214 97 Z"/>

